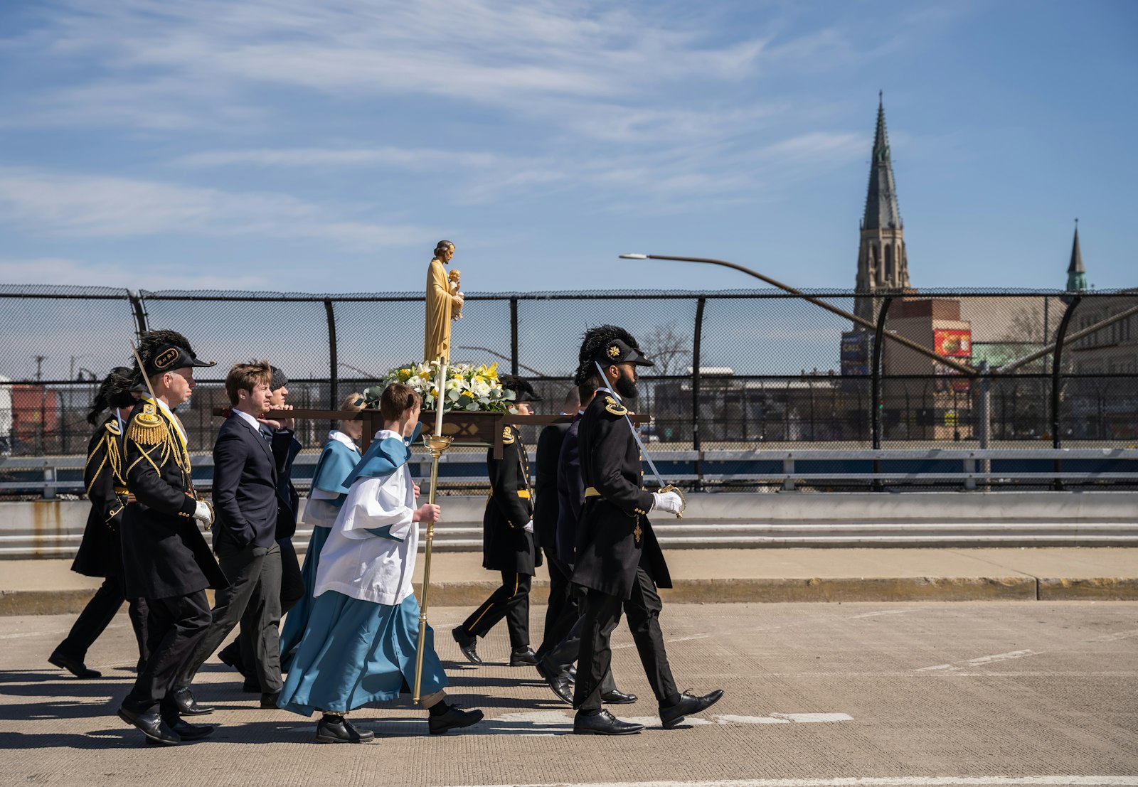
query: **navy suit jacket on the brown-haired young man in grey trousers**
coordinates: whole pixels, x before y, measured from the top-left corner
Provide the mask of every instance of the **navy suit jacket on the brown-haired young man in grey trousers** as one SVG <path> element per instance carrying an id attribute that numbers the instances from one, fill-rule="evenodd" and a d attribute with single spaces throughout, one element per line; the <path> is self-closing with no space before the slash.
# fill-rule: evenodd
<path id="1" fill-rule="evenodd" d="M 277 459 L 261 431 L 232 413 L 214 442 L 214 549 L 271 547 L 277 540 Z"/>

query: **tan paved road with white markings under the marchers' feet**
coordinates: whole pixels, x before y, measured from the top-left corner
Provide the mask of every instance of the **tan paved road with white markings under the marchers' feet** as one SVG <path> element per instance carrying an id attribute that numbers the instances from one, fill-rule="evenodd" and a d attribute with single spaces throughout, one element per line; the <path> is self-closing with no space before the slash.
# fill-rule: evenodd
<path id="1" fill-rule="evenodd" d="M 445 632 L 465 613 L 431 618 Z M 0 619 L 0 784 L 1138 785 L 1138 603 L 671 605 L 681 688 L 727 696 L 684 729 L 615 739 L 569 735 L 571 712 L 534 671 L 502 665 L 504 632 L 480 646 L 498 661 L 481 669 L 454 662 L 447 638 L 452 694 L 487 720 L 430 737 L 410 703 L 363 709 L 370 746 L 314 745 L 314 720 L 254 710 L 216 662 L 198 695 L 217 734 L 143 746 L 114 716 L 133 661 L 125 618 L 89 654 L 110 676 L 98 681 L 44 662 L 71 620 Z M 624 628 L 616 645 L 619 685 L 642 696 L 622 715 L 651 723 Z"/>

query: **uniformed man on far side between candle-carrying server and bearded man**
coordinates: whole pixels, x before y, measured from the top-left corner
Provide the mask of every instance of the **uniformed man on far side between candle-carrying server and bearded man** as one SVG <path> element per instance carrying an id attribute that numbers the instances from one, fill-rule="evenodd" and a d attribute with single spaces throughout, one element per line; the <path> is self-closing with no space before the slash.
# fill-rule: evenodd
<path id="1" fill-rule="evenodd" d="M 513 391 L 512 409 L 530 415 L 531 401 L 541 401 L 533 386 L 521 378 L 503 375 L 502 388 Z M 534 544 L 534 500 L 529 486 L 529 459 L 521 432 L 506 426 L 502 434 L 502 458 L 494 449 L 486 454 L 486 471 L 490 478 L 490 496 L 483 515 L 483 568 L 502 572 L 502 587 L 495 590 L 470 618 L 452 629 L 451 635 L 462 654 L 472 664 L 483 660 L 476 649 L 478 637 L 485 637 L 505 618 L 510 631 L 510 666 L 537 663 L 529 647 L 529 586 L 542 555 Z"/>

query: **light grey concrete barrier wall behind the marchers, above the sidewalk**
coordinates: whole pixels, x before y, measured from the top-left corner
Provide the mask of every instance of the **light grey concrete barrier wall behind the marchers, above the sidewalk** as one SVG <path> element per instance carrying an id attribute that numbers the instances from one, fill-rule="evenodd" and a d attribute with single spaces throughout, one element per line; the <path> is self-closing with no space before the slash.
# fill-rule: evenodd
<path id="1" fill-rule="evenodd" d="M 436 548 L 480 549 L 486 498 L 440 503 Z M 0 558 L 73 556 L 88 511 L 85 500 L 0 503 Z M 1138 492 L 711 492 L 653 528 L 670 548 L 1136 546 Z M 310 532 L 297 531 L 302 552 Z"/>

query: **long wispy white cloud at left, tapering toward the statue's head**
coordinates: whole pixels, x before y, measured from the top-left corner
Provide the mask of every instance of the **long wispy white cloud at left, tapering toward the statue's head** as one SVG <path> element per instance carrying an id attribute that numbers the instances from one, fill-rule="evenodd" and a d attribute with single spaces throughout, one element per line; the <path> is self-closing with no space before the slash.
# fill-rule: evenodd
<path id="1" fill-rule="evenodd" d="M 0 223 L 83 237 L 191 233 L 320 238 L 347 247 L 404 246 L 426 227 L 346 221 L 288 194 L 0 167 Z"/>

